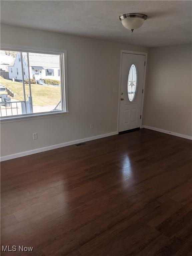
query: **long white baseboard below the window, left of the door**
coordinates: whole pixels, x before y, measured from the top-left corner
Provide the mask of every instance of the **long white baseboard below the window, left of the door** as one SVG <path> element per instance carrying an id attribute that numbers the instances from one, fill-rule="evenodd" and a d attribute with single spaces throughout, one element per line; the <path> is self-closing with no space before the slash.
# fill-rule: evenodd
<path id="1" fill-rule="evenodd" d="M 116 134 L 118 134 L 117 131 L 116 132 L 105 133 L 105 134 L 101 134 L 101 135 L 97 135 L 97 136 L 93 136 L 93 137 L 88 137 L 88 138 L 84 138 L 84 139 L 80 139 L 80 140 L 68 141 L 68 142 L 64 142 L 64 143 L 61 143 L 61 144 L 51 145 L 51 146 L 48 146 L 48 147 L 37 148 L 37 149 L 24 151 L 24 152 L 12 154 L 12 155 L 6 155 L 6 156 L 1 157 L 1 162 L 9 160 L 9 159 L 17 158 L 17 157 L 22 157 L 22 156 L 27 156 L 27 155 L 40 153 L 40 152 L 43 152 L 43 151 L 48 151 L 48 150 L 51 150 L 51 149 L 62 148 L 62 147 L 74 145 L 74 144 L 77 144 L 77 143 L 82 143 L 82 142 L 86 142 L 86 141 L 90 141 L 90 140 L 96 140 L 96 139 L 100 139 L 100 138 L 104 138 L 104 137 L 108 137 L 108 136 L 112 136 L 112 135 L 116 135 Z"/>

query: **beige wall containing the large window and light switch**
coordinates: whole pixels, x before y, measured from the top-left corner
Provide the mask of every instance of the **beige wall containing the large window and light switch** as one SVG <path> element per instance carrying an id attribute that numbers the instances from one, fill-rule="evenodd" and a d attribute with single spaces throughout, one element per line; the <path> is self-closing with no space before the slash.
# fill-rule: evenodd
<path id="1" fill-rule="evenodd" d="M 9 25 L 1 26 L 1 46 L 67 50 L 69 99 L 69 115 L 2 123 L 1 156 L 117 131 L 113 87 L 118 91 L 120 50 L 147 52 L 140 46 Z"/>

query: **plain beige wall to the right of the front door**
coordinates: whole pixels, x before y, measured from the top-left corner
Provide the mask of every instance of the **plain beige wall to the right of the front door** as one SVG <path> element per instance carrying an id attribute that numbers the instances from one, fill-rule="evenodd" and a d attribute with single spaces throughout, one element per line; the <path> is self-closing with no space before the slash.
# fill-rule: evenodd
<path id="1" fill-rule="evenodd" d="M 192 136 L 191 45 L 151 48 L 143 124 Z"/>

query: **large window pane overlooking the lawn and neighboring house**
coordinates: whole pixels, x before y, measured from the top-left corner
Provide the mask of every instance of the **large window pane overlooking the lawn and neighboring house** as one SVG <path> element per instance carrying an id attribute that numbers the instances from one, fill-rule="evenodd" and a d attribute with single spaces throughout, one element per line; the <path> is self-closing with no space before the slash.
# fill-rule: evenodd
<path id="1" fill-rule="evenodd" d="M 64 53 L 3 49 L 1 56 L 8 70 L 0 76 L 1 119 L 67 112 Z"/>

